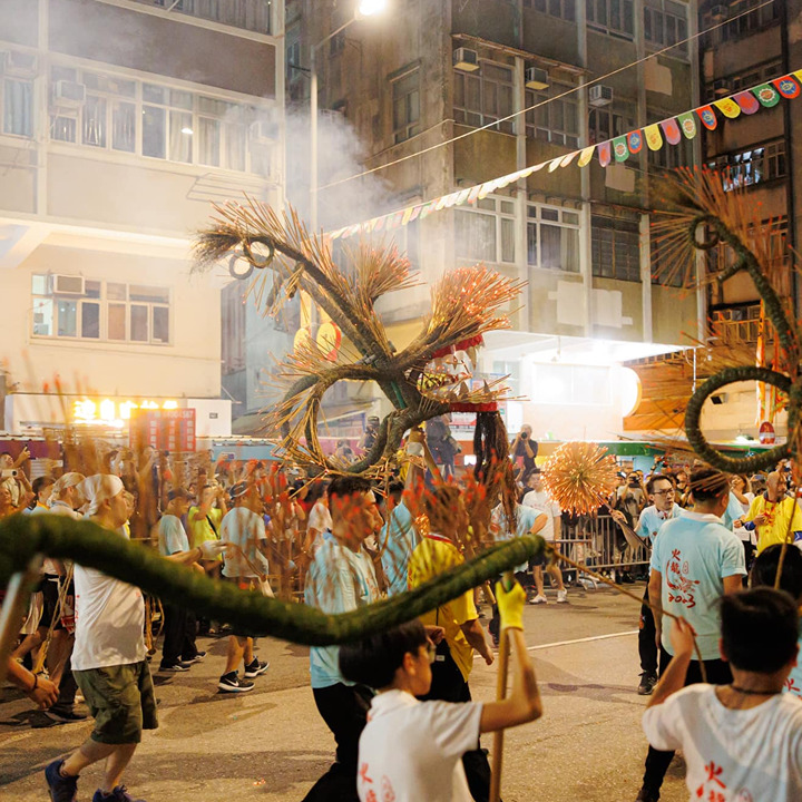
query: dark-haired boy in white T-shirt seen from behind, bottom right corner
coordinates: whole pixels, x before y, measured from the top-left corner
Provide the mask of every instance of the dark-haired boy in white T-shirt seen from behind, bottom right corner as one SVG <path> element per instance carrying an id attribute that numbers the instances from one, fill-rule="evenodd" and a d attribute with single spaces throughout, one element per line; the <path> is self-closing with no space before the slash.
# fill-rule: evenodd
<path id="1" fill-rule="evenodd" d="M 682 749 L 691 800 L 798 802 L 802 704 L 783 693 L 796 663 L 795 602 L 772 588 L 739 591 L 722 598 L 721 619 L 721 655 L 732 666 L 732 683 L 683 688 L 693 630 L 674 622 L 674 657 L 644 713 L 646 737 L 658 750 Z"/>

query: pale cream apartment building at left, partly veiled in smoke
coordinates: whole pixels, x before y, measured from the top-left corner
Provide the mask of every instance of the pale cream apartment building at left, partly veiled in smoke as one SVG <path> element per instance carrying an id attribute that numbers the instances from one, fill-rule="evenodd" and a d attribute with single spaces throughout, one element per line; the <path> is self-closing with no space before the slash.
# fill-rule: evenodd
<path id="1" fill-rule="evenodd" d="M 59 422 L 58 376 L 87 424 L 231 432 L 231 276 L 192 274 L 190 244 L 213 202 L 283 203 L 282 33 L 266 0 L 0 4 L 0 428 Z"/>

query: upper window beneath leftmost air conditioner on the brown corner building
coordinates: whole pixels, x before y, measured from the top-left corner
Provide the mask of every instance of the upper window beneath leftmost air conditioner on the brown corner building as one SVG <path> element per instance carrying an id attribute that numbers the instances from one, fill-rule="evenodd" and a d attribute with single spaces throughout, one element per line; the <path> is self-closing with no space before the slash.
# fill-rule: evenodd
<path id="1" fill-rule="evenodd" d="M 482 61 L 476 72 L 454 70 L 454 121 L 480 128 L 512 114 L 512 68 Z M 495 126 L 515 133 L 514 121 Z"/>

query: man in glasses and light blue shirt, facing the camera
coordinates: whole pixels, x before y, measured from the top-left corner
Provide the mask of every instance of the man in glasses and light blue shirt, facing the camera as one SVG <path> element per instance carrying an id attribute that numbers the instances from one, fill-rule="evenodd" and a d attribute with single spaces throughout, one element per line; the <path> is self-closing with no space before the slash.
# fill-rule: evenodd
<path id="1" fill-rule="evenodd" d="M 635 531 L 649 546 L 654 544 L 659 528 L 672 518 L 679 518 L 685 510 L 676 503 L 674 483 L 663 473 L 654 473 L 646 482 L 646 495 L 651 505 L 646 507 L 638 518 Z M 614 510 L 613 519 L 626 524 L 623 512 Z M 644 590 L 644 604 L 640 607 L 640 623 L 638 630 L 638 655 L 640 657 L 640 684 L 638 694 L 649 696 L 657 684 L 657 643 L 656 629 L 652 608 L 648 606 L 648 585 Z"/>

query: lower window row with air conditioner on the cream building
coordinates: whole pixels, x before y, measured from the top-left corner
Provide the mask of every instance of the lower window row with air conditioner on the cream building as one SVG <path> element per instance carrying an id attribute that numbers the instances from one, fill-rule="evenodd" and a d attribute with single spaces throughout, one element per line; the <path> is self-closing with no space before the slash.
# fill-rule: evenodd
<path id="1" fill-rule="evenodd" d="M 169 343 L 169 287 L 65 278 L 32 276 L 35 336 Z"/>

